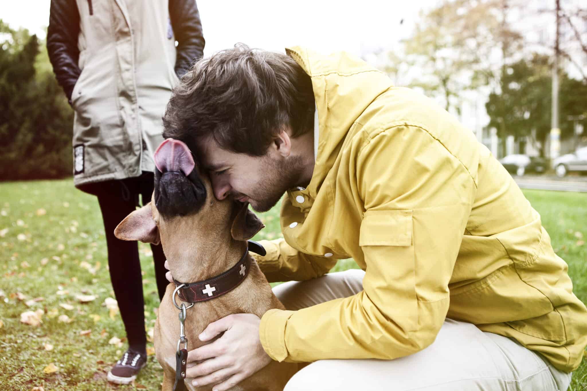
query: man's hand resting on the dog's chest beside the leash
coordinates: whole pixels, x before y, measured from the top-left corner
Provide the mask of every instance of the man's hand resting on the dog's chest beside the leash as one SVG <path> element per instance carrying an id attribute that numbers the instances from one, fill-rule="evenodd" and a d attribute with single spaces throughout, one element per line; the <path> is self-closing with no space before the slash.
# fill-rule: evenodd
<path id="1" fill-rule="evenodd" d="M 188 363 L 202 361 L 189 366 L 186 375 L 194 386 L 215 384 L 214 391 L 228 390 L 247 379 L 271 362 L 259 340 L 261 319 L 254 314 L 233 314 L 212 322 L 198 336 L 200 341 L 224 332 L 211 344 L 188 352 Z"/>

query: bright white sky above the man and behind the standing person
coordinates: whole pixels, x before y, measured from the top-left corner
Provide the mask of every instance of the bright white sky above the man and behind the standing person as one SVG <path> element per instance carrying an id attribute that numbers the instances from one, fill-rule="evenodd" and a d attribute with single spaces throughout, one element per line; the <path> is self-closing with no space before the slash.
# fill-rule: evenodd
<path id="1" fill-rule="evenodd" d="M 0 0 L 0 18 L 14 29 L 22 26 L 44 37 L 49 2 Z M 348 50 L 363 55 L 393 49 L 410 35 L 419 11 L 437 0 L 200 0 L 197 4 L 205 56 L 237 42 L 267 50 L 303 45 L 321 52 Z"/>

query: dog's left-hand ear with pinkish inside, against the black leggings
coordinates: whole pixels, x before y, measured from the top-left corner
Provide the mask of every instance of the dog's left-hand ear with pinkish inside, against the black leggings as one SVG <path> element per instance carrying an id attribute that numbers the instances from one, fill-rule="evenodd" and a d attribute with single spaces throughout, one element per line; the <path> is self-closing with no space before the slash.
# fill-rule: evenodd
<path id="1" fill-rule="evenodd" d="M 151 203 L 134 210 L 114 229 L 114 236 L 121 240 L 140 240 L 143 243 L 161 243 L 159 230 L 151 215 Z"/>

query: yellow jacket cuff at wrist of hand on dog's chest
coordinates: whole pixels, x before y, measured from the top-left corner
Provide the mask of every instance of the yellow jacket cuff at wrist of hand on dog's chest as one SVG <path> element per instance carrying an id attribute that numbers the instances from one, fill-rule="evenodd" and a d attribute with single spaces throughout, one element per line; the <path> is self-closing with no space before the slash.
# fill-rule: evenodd
<path id="1" fill-rule="evenodd" d="M 295 311 L 269 310 L 261 318 L 259 338 L 265 352 L 275 361 L 284 361 L 288 356 L 285 346 L 285 325 Z"/>

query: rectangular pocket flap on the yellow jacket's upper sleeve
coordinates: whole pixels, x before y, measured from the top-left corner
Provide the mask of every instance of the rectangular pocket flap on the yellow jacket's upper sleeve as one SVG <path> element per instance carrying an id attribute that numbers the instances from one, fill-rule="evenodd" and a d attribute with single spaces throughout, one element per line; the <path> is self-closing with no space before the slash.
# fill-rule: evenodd
<path id="1" fill-rule="evenodd" d="M 411 210 L 367 210 L 359 246 L 411 246 Z"/>

